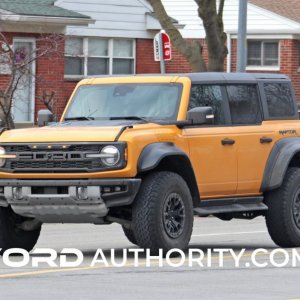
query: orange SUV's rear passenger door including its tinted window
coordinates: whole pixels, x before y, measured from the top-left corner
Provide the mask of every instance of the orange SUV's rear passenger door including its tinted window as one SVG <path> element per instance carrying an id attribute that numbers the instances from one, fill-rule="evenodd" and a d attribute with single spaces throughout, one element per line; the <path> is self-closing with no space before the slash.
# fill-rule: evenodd
<path id="1" fill-rule="evenodd" d="M 237 195 L 257 195 L 266 161 L 274 145 L 274 125 L 263 122 L 257 83 L 229 83 L 226 91 L 237 148 Z"/>

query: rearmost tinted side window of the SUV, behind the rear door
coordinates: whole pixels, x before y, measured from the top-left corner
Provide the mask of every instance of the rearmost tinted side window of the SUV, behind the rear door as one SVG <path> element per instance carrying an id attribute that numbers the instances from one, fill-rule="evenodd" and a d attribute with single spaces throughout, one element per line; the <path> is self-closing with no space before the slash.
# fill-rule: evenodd
<path id="1" fill-rule="evenodd" d="M 288 83 L 265 83 L 264 89 L 270 117 L 294 116 L 294 99 Z"/>

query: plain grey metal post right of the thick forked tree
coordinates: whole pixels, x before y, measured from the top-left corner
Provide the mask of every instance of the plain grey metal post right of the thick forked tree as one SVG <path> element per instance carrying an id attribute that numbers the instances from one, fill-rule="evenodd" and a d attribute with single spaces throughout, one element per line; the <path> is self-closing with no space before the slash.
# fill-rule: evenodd
<path id="1" fill-rule="evenodd" d="M 239 32 L 237 47 L 237 72 L 246 71 L 247 54 L 247 3 L 248 0 L 239 0 Z"/>

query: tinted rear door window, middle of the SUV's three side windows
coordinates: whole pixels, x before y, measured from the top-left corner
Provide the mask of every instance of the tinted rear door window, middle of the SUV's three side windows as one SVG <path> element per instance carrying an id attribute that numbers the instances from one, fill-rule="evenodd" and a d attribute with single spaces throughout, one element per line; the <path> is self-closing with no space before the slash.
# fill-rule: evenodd
<path id="1" fill-rule="evenodd" d="M 227 86 L 232 124 L 258 124 L 262 121 L 255 84 Z"/>

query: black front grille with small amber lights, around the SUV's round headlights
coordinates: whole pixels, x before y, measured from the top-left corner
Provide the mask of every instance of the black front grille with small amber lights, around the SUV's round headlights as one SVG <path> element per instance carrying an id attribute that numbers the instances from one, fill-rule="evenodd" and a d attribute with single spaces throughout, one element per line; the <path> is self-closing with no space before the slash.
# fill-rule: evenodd
<path id="1" fill-rule="evenodd" d="M 105 166 L 99 158 L 86 158 L 87 154 L 100 153 L 103 147 L 118 147 L 121 159 L 113 168 Z M 1 145 L 6 154 L 15 154 L 1 169 L 12 173 L 84 173 L 106 171 L 125 167 L 125 143 L 76 143 L 76 144 L 11 144 Z"/>

